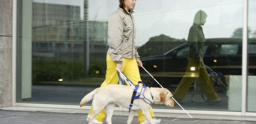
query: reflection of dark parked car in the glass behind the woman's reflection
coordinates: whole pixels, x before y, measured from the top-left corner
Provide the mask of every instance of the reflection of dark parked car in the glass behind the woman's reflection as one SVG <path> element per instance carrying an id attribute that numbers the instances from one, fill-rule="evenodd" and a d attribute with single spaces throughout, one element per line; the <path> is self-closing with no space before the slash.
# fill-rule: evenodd
<path id="1" fill-rule="evenodd" d="M 249 75 L 256 75 L 256 39 L 248 39 Z M 188 42 L 179 45 L 161 56 L 142 57 L 143 66 L 166 88 L 175 87 L 184 76 L 187 68 Z M 224 75 L 242 75 L 242 39 L 211 38 L 206 39 L 204 46 L 204 63 L 215 72 Z M 142 81 L 147 86 L 154 86 L 145 71 L 140 68 Z M 196 77 L 198 74 L 186 74 Z"/>

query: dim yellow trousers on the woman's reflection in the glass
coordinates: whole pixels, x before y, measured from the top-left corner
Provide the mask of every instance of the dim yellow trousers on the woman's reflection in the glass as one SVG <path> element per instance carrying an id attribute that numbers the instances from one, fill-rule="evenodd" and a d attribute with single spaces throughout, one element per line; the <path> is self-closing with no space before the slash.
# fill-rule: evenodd
<path id="1" fill-rule="evenodd" d="M 195 67 L 195 71 L 191 71 L 190 68 Z M 201 88 L 203 89 L 206 100 L 212 101 L 218 98 L 218 94 L 214 91 L 211 81 L 209 79 L 207 70 L 205 68 L 204 62 L 200 64 L 198 60 L 193 57 L 188 57 L 188 67 L 185 73 L 197 72 L 199 73 L 199 83 Z M 182 101 L 191 86 L 194 82 L 195 78 L 193 77 L 183 77 L 180 81 L 179 85 L 177 86 L 176 90 L 173 92 L 173 96 L 175 99 Z"/>

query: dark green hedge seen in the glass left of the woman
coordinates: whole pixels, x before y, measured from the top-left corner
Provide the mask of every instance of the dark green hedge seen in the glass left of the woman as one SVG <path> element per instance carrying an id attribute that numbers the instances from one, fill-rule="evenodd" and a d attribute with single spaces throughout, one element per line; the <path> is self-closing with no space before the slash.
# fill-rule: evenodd
<path id="1" fill-rule="evenodd" d="M 77 80 L 104 77 L 105 59 L 90 59 L 89 72 L 85 72 L 81 58 L 33 57 L 33 82 L 58 81 L 58 79 Z"/>

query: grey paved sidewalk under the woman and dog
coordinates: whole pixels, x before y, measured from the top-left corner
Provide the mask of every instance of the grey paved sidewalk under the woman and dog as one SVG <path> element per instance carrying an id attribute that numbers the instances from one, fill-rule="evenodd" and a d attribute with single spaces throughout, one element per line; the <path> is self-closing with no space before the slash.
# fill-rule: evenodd
<path id="1" fill-rule="evenodd" d="M 118 112 L 112 117 L 113 124 L 126 124 L 127 113 Z M 163 113 L 155 113 L 156 116 Z M 35 107 L 8 107 L 0 109 L 0 124 L 87 124 L 87 111 Z M 256 124 L 256 117 L 173 114 L 161 118 L 161 124 Z M 106 122 L 104 122 L 106 124 Z M 137 116 L 132 124 L 137 123 Z"/>

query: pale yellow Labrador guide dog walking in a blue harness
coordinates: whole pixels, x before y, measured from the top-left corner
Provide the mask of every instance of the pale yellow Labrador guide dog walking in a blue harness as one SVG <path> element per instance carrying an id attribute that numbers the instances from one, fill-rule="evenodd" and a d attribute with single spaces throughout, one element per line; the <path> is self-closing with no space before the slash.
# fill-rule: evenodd
<path id="1" fill-rule="evenodd" d="M 137 91 L 140 91 L 141 88 L 142 86 L 140 86 Z M 110 84 L 101 88 L 97 88 L 85 95 L 85 97 L 80 102 L 80 107 L 93 99 L 93 113 L 89 117 L 88 124 L 91 124 L 93 118 L 98 115 L 98 113 L 100 113 L 104 108 L 107 113 L 106 122 L 111 124 L 111 117 L 114 112 L 115 104 L 128 108 L 131 103 L 133 91 L 134 88 L 131 86 Z M 138 93 L 136 95 L 138 95 Z M 165 104 L 168 107 L 174 106 L 172 94 L 165 88 L 147 87 L 144 92 L 144 97 L 155 104 Z M 131 124 L 136 110 L 142 110 L 142 114 L 146 117 L 146 120 L 150 124 L 155 124 L 150 116 L 150 105 L 143 99 L 134 100 L 133 107 L 128 116 L 127 124 Z"/>

